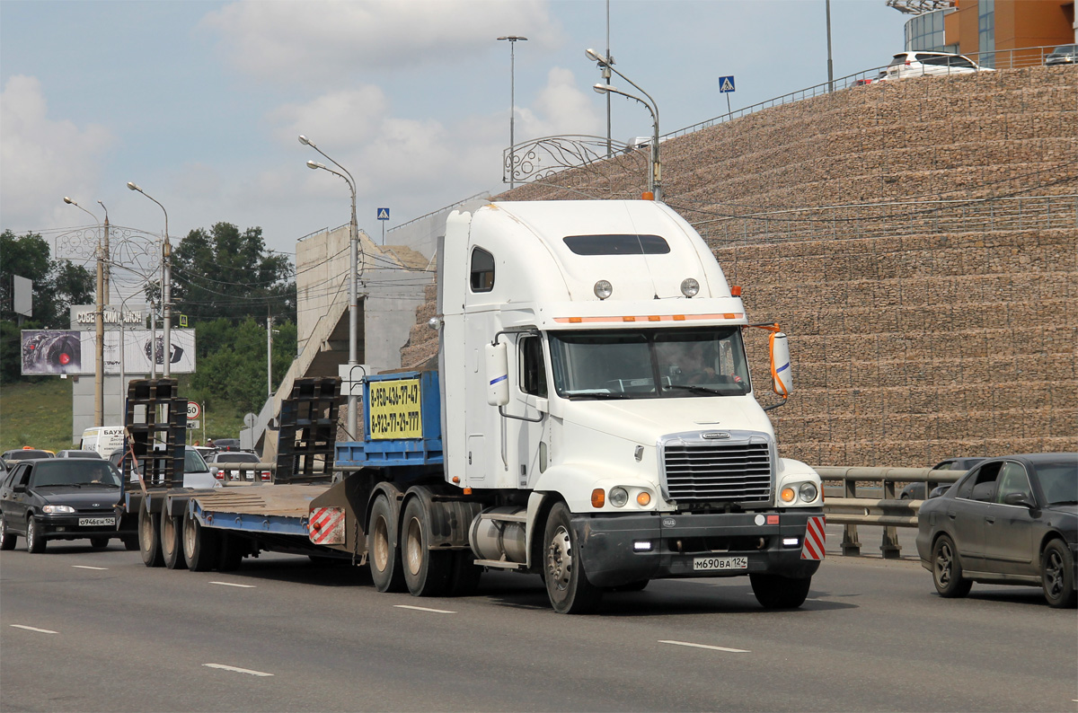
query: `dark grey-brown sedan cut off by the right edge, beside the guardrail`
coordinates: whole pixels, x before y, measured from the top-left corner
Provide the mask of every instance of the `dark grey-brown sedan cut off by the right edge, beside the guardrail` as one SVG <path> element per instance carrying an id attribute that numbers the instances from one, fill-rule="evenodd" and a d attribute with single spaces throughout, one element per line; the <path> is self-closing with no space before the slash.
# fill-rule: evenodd
<path id="1" fill-rule="evenodd" d="M 1042 587 L 1074 606 L 1078 453 L 991 458 L 917 513 L 917 554 L 941 597 L 972 583 Z"/>

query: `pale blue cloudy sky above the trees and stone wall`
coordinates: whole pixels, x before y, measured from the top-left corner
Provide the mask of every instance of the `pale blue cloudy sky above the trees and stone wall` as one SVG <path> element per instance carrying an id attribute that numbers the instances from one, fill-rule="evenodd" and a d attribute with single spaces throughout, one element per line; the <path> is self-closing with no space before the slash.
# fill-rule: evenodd
<path id="1" fill-rule="evenodd" d="M 604 0 L 0 2 L 0 228 L 86 225 L 70 196 L 113 224 L 169 234 L 227 221 L 267 246 L 348 221 L 388 227 L 500 192 L 516 44 L 516 140 L 605 135 L 606 100 L 584 50 L 606 47 Z M 834 75 L 885 65 L 906 17 L 884 0 L 831 3 Z M 660 108 L 662 132 L 827 80 L 824 0 L 612 0 L 616 66 Z M 628 88 L 628 87 L 626 87 Z M 613 138 L 650 134 L 612 101 Z"/>

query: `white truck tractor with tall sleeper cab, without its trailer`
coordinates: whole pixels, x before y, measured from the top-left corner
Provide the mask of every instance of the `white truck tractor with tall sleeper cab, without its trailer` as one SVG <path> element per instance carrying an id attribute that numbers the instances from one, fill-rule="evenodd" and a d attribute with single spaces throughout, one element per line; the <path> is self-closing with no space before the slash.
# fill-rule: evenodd
<path id="1" fill-rule="evenodd" d="M 744 306 L 688 223 L 652 201 L 498 202 L 451 215 L 440 256 L 443 477 L 482 506 L 475 564 L 541 572 L 564 613 L 657 577 L 747 574 L 765 606 L 804 601 L 819 477 L 778 458 Z M 374 520 L 376 583 L 379 561 L 432 556 Z"/>

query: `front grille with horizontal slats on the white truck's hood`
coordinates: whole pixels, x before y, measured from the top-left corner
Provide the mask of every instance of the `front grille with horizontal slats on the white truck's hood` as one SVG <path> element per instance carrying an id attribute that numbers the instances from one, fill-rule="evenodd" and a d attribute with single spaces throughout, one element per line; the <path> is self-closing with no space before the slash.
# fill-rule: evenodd
<path id="1" fill-rule="evenodd" d="M 764 502 L 772 498 L 773 445 L 761 433 L 723 431 L 668 436 L 663 450 L 663 494 L 675 502 Z"/>

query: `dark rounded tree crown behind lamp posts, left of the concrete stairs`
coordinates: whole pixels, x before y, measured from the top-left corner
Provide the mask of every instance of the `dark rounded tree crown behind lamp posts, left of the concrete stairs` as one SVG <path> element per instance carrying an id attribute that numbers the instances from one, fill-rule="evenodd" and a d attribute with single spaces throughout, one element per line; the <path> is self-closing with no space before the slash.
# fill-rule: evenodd
<path id="1" fill-rule="evenodd" d="M 172 251 L 175 311 L 197 321 L 247 317 L 295 320 L 295 282 L 287 255 L 266 250 L 262 228 L 216 223 L 191 230 Z"/>

